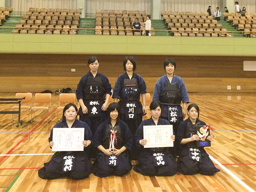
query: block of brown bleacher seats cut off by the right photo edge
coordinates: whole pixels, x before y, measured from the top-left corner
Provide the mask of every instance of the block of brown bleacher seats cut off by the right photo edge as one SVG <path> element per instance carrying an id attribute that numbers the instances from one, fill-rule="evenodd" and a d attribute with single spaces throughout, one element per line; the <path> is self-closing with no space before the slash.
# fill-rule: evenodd
<path id="1" fill-rule="evenodd" d="M 246 13 L 245 17 L 242 17 L 240 13 L 226 13 L 225 17 L 228 17 L 228 21 L 233 27 L 244 31 L 245 36 L 256 37 L 256 13 Z"/>

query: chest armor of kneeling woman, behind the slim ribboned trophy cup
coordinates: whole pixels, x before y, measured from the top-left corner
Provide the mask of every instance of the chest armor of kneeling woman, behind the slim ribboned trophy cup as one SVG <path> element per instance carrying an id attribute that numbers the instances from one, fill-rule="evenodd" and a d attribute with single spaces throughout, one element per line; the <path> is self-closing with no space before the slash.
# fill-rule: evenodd
<path id="1" fill-rule="evenodd" d="M 105 132 L 103 134 L 103 137 L 102 137 L 102 146 L 105 148 L 105 149 L 108 149 L 109 146 L 110 146 L 110 134 L 111 134 L 111 131 L 110 130 L 113 130 L 112 126 L 111 125 L 107 125 L 106 126 L 106 129 L 105 129 Z M 116 133 L 116 136 L 117 136 L 117 149 L 120 149 L 122 148 L 122 146 L 124 146 L 124 136 L 123 136 L 123 132 L 122 132 L 122 129 L 119 125 L 117 125 L 115 127 L 115 130 L 117 130 L 117 133 Z"/>

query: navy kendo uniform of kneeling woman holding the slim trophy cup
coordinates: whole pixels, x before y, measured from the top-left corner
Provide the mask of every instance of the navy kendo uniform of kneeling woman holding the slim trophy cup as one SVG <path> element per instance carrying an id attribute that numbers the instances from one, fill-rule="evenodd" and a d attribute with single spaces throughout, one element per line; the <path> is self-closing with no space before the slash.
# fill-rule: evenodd
<path id="1" fill-rule="evenodd" d="M 108 156 L 98 150 L 96 161 L 93 164 L 93 174 L 98 177 L 107 177 L 110 175 L 122 176 L 128 174 L 132 168 L 127 152 L 132 149 L 133 138 L 125 122 L 117 120 L 114 127 L 112 127 L 110 120 L 103 122 L 94 134 L 94 147 L 97 148 L 102 145 L 105 149 L 109 149 L 110 134 L 113 130 L 116 131 L 116 148 L 120 149 L 125 146 L 127 150 L 119 156 Z"/>

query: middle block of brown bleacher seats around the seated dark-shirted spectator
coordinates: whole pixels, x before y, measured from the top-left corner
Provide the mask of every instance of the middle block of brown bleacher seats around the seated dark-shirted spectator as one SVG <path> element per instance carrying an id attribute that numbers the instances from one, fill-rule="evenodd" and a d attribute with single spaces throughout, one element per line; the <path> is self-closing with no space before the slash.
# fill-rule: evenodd
<path id="1" fill-rule="evenodd" d="M 132 36 L 135 18 L 143 25 L 146 21 L 146 11 L 97 10 L 95 35 Z M 135 32 L 135 35 L 140 35 L 140 32 Z"/>

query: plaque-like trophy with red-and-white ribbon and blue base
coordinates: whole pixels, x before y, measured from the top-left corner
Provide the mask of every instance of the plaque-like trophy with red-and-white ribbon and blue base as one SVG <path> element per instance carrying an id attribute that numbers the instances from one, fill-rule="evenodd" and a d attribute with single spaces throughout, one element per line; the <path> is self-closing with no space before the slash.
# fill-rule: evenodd
<path id="1" fill-rule="evenodd" d="M 210 146 L 210 140 L 207 139 L 207 137 L 210 136 L 210 131 L 213 137 L 215 138 L 215 135 L 210 125 L 208 126 L 196 125 L 195 127 L 196 127 L 196 134 L 200 137 L 200 140 L 196 141 L 196 145 L 198 147 Z"/>

